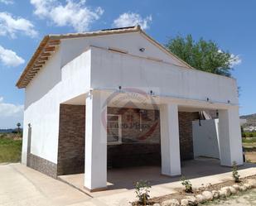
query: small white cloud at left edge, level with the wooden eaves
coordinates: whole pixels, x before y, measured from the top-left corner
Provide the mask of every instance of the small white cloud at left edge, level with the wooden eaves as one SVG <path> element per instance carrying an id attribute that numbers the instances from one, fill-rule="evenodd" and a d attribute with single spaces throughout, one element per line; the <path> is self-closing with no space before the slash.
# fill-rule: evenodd
<path id="1" fill-rule="evenodd" d="M 13 50 L 7 50 L 0 46 L 0 63 L 7 66 L 18 66 L 22 65 L 25 60 L 18 56 Z M 1 98 L 0 98 L 1 101 Z"/>

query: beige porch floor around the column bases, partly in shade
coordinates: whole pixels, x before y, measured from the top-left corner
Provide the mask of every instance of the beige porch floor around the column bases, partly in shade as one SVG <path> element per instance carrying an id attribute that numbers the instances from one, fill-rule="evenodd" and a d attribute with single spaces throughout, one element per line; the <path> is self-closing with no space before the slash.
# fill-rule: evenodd
<path id="1" fill-rule="evenodd" d="M 232 180 L 230 170 L 231 168 L 229 167 L 220 166 L 220 160 L 210 158 L 186 160 L 181 163 L 182 175 L 190 179 L 194 187 L 200 187 L 202 184 L 217 184 L 225 180 Z M 245 163 L 239 167 L 239 174 L 241 177 L 256 175 L 256 165 Z M 181 188 L 181 176 L 170 177 L 161 175 L 161 167 L 157 166 L 108 170 L 108 189 L 93 193 L 84 188 L 84 174 L 61 175 L 59 179 L 94 198 L 112 194 L 128 194 L 131 191 L 134 193 L 133 183 L 138 180 L 150 182 L 152 185 L 151 197 L 171 194 L 176 192 L 177 188 Z"/>

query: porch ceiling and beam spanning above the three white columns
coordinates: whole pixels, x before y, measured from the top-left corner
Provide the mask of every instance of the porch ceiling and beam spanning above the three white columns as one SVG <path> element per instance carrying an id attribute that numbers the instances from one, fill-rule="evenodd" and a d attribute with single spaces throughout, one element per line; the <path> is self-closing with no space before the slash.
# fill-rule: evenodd
<path id="1" fill-rule="evenodd" d="M 103 95 L 106 95 L 108 99 L 108 106 L 116 108 L 159 109 L 161 104 L 176 103 L 180 112 L 196 113 L 205 110 L 226 109 L 230 106 L 234 106 L 231 104 L 209 103 L 193 99 L 151 96 L 147 93 L 114 93 L 114 90 L 104 89 L 95 89 L 95 91 L 102 92 Z M 85 98 L 88 95 L 89 93 L 80 94 L 75 98 L 70 98 L 63 102 L 63 104 L 85 105 Z"/>

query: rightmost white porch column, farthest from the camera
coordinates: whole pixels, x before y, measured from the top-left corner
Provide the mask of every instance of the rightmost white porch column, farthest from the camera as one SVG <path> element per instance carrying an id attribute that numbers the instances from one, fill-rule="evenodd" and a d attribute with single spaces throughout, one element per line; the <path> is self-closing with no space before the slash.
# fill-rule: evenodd
<path id="1" fill-rule="evenodd" d="M 242 137 L 239 122 L 239 107 L 219 110 L 220 164 L 243 165 Z"/>

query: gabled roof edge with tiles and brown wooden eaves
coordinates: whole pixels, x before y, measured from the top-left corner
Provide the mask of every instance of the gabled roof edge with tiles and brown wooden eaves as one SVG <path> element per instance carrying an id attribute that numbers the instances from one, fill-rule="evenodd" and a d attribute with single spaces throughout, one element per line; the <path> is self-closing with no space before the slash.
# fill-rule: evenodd
<path id="1" fill-rule="evenodd" d="M 46 61 L 51 58 L 51 55 L 56 51 L 56 48 L 60 45 L 60 40 L 70 39 L 70 38 L 80 38 L 87 36 L 104 36 L 104 35 L 113 35 L 113 34 L 123 34 L 130 32 L 140 32 L 147 40 L 151 41 L 155 46 L 159 47 L 161 50 L 166 52 L 168 55 L 171 55 L 172 58 L 175 58 L 182 65 L 187 68 L 192 68 L 191 65 L 188 65 L 185 61 L 179 59 L 176 55 L 172 54 L 164 46 L 159 44 L 157 41 L 153 40 L 148 36 L 141 27 L 138 26 L 128 26 L 122 28 L 114 29 L 105 29 L 101 31 L 92 31 L 86 33 L 69 33 L 64 35 L 47 35 L 45 36 L 40 45 L 37 47 L 36 52 L 32 55 L 31 60 L 28 62 L 26 68 L 23 70 L 21 77 L 17 81 L 17 88 L 22 89 L 26 88 L 27 84 L 30 83 L 31 79 L 36 75 L 36 73 L 46 64 Z"/>

